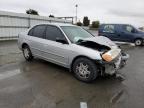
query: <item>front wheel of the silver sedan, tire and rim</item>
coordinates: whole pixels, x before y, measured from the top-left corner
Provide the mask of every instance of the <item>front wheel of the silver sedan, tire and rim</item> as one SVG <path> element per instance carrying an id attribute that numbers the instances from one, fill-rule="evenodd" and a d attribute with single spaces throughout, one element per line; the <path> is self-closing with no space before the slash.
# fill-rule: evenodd
<path id="1" fill-rule="evenodd" d="M 98 75 L 96 64 L 88 58 L 78 58 L 73 63 L 72 67 L 74 76 L 83 82 L 92 82 Z"/>

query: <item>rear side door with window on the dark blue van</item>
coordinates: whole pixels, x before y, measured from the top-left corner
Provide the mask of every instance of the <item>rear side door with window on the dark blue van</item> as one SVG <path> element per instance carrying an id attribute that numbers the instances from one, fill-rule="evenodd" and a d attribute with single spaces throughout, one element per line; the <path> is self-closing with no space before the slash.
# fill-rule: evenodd
<path id="1" fill-rule="evenodd" d="M 103 29 L 101 30 L 103 36 L 113 40 L 113 41 L 117 41 L 118 37 L 116 34 L 116 26 L 113 24 L 106 24 L 103 25 Z"/>

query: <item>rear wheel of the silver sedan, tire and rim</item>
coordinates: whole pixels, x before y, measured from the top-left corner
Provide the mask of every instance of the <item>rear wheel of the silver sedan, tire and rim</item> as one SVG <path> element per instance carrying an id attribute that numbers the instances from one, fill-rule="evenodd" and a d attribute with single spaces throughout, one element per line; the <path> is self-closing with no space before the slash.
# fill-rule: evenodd
<path id="1" fill-rule="evenodd" d="M 29 48 L 28 45 L 25 45 L 25 46 L 22 48 L 22 51 L 23 51 L 23 56 L 24 56 L 24 58 L 25 58 L 27 61 L 31 61 L 31 60 L 33 59 L 31 50 L 30 50 L 30 48 Z"/>

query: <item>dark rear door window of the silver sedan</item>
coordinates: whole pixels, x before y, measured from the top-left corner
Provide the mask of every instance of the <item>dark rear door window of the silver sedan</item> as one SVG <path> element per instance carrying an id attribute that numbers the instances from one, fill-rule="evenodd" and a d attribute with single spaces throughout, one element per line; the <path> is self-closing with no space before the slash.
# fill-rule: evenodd
<path id="1" fill-rule="evenodd" d="M 46 25 L 38 25 L 29 31 L 29 35 L 38 38 L 44 38 L 45 30 L 46 30 Z"/>

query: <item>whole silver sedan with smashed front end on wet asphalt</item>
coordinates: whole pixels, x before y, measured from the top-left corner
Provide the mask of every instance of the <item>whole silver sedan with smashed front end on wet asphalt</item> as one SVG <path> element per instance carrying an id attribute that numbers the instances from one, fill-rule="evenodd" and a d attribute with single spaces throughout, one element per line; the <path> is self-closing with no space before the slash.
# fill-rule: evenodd
<path id="1" fill-rule="evenodd" d="M 18 46 L 27 61 L 38 57 L 64 66 L 84 82 L 115 74 L 128 59 L 110 39 L 70 24 L 36 25 L 19 34 Z"/>

